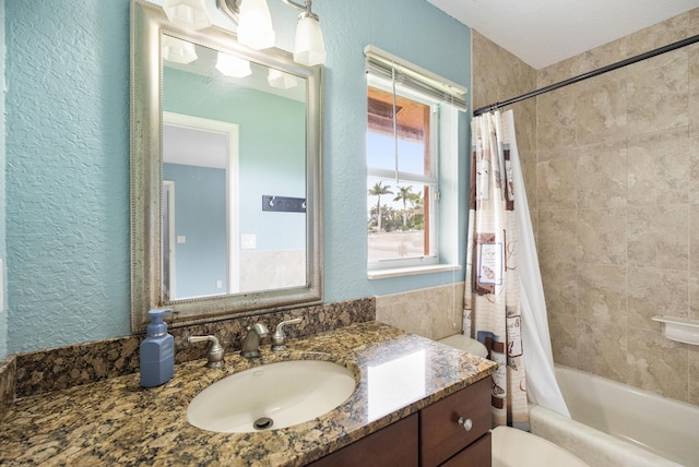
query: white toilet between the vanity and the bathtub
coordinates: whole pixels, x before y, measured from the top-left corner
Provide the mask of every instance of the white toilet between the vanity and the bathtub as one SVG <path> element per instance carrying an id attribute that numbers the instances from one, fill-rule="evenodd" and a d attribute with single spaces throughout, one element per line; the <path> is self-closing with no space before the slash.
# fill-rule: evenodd
<path id="1" fill-rule="evenodd" d="M 463 334 L 438 342 L 483 358 L 488 356 L 483 344 Z M 590 467 L 570 452 L 535 434 L 511 427 L 497 427 L 491 432 L 493 467 Z"/>

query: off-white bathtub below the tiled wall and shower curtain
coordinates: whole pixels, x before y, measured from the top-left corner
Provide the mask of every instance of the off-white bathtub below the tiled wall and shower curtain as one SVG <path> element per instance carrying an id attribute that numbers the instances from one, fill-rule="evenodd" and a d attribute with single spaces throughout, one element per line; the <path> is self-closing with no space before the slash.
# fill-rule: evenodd
<path id="1" fill-rule="evenodd" d="M 699 467 L 699 407 L 567 367 L 556 379 L 572 420 L 530 404 L 532 433 L 593 467 Z"/>

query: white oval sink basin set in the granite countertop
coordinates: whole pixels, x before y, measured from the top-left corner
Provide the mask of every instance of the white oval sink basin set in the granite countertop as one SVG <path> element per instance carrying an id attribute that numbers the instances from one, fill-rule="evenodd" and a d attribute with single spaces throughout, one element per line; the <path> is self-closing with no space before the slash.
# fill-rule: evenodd
<path id="1" fill-rule="evenodd" d="M 224 433 L 286 428 L 334 409 L 355 385 L 352 371 L 329 361 L 270 363 L 206 387 L 189 404 L 187 421 Z"/>

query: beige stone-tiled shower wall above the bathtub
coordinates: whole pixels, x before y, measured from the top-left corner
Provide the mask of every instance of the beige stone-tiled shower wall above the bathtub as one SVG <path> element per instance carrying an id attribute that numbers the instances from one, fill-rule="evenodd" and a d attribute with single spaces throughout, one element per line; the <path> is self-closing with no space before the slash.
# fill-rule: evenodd
<path id="1" fill-rule="evenodd" d="M 697 31 L 699 9 L 538 71 L 514 58 L 503 71 L 482 55 L 497 46 L 474 33 L 474 106 L 494 101 L 488 87 L 508 87 L 502 100 L 531 73 L 543 87 Z M 522 81 L 509 87 L 501 74 Z M 535 128 L 533 147 L 519 130 L 518 142 L 554 359 L 699 405 L 699 347 L 651 321 L 699 319 L 699 45 L 534 100 L 535 124 L 524 104 L 514 112 L 524 134 Z"/>

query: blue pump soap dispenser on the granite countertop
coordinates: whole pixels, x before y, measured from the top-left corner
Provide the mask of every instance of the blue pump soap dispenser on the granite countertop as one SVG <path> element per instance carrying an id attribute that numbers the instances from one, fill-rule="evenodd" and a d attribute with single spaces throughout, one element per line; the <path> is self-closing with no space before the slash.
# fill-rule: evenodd
<path id="1" fill-rule="evenodd" d="M 167 383 L 175 373 L 175 338 L 163 320 L 170 309 L 151 310 L 147 336 L 141 343 L 141 385 L 155 387 Z"/>

